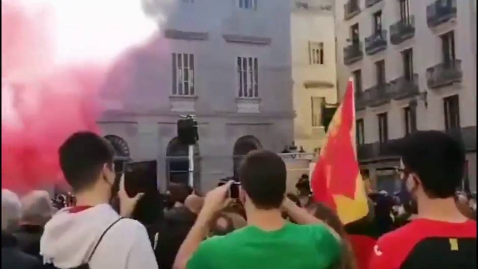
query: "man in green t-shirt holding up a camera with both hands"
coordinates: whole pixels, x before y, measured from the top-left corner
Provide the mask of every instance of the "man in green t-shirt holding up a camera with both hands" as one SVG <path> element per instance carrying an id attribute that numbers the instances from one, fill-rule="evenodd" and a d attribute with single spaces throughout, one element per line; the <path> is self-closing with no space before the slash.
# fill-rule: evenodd
<path id="1" fill-rule="evenodd" d="M 286 168 L 278 155 L 263 150 L 249 153 L 241 164 L 239 178 L 248 225 L 203 241 L 207 224 L 225 204 L 232 182 L 214 189 L 206 195 L 173 268 L 329 269 L 339 264 L 339 235 L 284 198 Z M 285 221 L 282 211 L 302 225 Z"/>

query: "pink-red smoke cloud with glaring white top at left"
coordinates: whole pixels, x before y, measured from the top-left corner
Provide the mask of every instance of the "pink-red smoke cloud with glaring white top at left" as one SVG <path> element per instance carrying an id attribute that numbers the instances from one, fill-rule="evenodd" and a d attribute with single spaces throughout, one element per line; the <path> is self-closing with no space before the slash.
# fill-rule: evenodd
<path id="1" fill-rule="evenodd" d="M 80 56 L 69 55 L 65 40 L 78 33 L 73 27 L 68 37 L 59 36 L 61 21 L 54 9 L 59 8 L 46 1 L 27 2 L 2 1 L 2 188 L 16 191 L 63 182 L 58 147 L 74 132 L 99 131 L 98 92 L 112 61 L 95 61 L 92 57 L 101 51 L 82 54 L 94 46 L 77 44 L 85 40 L 81 36 L 71 41 L 72 51 L 86 49 L 77 53 Z M 86 21 L 88 14 L 82 17 Z M 89 23 L 93 27 L 94 22 Z M 115 42 L 94 40 L 101 41 Z"/>

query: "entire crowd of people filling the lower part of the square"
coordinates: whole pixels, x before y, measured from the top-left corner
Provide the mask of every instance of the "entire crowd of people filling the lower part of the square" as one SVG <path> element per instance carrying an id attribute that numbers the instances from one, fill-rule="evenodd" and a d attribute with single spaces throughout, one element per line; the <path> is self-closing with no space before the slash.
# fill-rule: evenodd
<path id="1" fill-rule="evenodd" d="M 75 133 L 58 154 L 74 196 L 2 190 L 2 268 L 475 268 L 476 196 L 456 192 L 463 146 L 421 131 L 399 152 L 402 191 L 369 193 L 368 215 L 343 225 L 307 175 L 286 193 L 272 152 L 245 157 L 238 198 L 232 181 L 204 197 L 182 185 L 131 194 L 109 142 Z"/>

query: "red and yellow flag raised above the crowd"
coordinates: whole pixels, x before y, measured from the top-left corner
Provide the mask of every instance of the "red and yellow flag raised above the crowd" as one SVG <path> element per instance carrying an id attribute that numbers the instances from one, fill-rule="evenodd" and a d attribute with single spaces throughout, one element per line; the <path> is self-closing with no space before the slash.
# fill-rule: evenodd
<path id="1" fill-rule="evenodd" d="M 356 156 L 354 86 L 350 79 L 343 101 L 328 126 L 311 180 L 315 200 L 336 210 L 344 224 L 368 213 Z"/>

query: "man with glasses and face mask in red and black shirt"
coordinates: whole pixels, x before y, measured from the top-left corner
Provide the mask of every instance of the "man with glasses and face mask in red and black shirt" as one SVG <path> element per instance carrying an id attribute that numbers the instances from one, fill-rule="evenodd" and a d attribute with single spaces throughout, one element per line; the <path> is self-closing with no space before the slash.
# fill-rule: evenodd
<path id="1" fill-rule="evenodd" d="M 476 222 L 454 199 L 464 175 L 463 145 L 439 131 L 419 131 L 399 146 L 398 171 L 417 216 L 379 238 L 369 268 L 476 268 Z"/>

